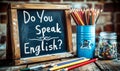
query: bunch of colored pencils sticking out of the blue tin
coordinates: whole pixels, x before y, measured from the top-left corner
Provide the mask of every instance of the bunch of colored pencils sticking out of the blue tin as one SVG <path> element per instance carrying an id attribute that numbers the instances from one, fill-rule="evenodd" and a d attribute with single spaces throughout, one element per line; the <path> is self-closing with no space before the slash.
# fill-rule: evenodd
<path id="1" fill-rule="evenodd" d="M 94 25 L 101 14 L 100 9 L 72 9 L 71 15 L 77 25 Z"/>

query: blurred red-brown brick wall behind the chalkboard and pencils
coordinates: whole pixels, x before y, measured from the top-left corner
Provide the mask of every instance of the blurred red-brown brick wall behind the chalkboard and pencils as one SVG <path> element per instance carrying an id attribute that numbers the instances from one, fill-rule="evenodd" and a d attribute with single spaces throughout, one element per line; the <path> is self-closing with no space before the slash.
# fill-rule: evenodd
<path id="1" fill-rule="evenodd" d="M 56 4 L 70 4 L 72 8 L 95 8 L 103 9 L 98 22 L 96 23 L 96 36 L 102 31 L 116 32 L 118 42 L 118 52 L 120 53 L 120 1 L 119 0 L 1 0 L 0 1 L 0 49 L 5 44 L 6 39 L 6 24 L 8 3 L 56 3 Z M 76 25 L 73 20 L 73 46 L 76 47 Z M 4 45 L 5 46 L 5 45 Z"/>

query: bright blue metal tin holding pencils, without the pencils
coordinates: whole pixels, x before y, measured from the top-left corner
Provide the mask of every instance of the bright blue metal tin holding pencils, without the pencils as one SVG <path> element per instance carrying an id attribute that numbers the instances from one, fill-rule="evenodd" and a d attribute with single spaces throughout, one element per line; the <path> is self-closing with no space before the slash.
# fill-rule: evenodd
<path id="1" fill-rule="evenodd" d="M 95 52 L 95 26 L 77 26 L 77 56 L 93 58 Z"/>

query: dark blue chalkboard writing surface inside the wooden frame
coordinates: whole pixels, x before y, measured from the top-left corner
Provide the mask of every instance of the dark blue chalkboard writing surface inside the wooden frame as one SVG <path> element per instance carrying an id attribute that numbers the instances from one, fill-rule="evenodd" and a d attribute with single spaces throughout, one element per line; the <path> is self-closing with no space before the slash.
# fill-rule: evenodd
<path id="1" fill-rule="evenodd" d="M 64 10 L 20 9 L 17 14 L 22 58 L 67 51 Z"/>

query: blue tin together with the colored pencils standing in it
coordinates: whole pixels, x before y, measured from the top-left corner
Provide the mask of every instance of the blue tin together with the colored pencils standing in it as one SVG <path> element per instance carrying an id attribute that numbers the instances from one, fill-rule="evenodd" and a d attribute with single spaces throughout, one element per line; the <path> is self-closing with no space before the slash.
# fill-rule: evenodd
<path id="1" fill-rule="evenodd" d="M 71 9 L 76 23 L 77 56 L 93 58 L 95 52 L 95 24 L 102 12 L 100 9 Z"/>

